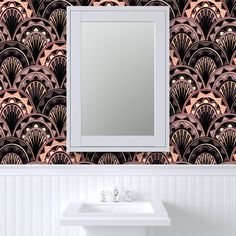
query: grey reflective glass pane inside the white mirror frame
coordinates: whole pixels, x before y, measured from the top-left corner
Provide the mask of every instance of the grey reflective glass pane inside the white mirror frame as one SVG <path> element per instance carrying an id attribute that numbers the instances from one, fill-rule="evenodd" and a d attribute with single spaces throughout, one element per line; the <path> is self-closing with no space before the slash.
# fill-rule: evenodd
<path id="1" fill-rule="evenodd" d="M 154 23 L 81 26 L 82 135 L 154 135 Z"/>

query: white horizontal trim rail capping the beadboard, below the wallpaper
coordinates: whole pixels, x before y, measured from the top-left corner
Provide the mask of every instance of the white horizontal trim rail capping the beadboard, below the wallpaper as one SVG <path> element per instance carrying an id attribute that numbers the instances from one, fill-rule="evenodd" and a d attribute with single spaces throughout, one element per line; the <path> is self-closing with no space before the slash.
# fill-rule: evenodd
<path id="1" fill-rule="evenodd" d="M 0 176 L 236 176 L 236 165 L 2 165 Z"/>

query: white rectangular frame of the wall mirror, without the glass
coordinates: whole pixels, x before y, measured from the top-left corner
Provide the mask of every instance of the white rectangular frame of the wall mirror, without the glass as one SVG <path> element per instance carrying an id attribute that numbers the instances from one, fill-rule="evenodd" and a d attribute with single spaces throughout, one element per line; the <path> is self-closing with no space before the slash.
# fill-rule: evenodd
<path id="1" fill-rule="evenodd" d="M 89 21 L 154 23 L 154 135 L 81 134 L 81 23 Z M 67 151 L 169 151 L 169 7 L 67 7 Z"/>

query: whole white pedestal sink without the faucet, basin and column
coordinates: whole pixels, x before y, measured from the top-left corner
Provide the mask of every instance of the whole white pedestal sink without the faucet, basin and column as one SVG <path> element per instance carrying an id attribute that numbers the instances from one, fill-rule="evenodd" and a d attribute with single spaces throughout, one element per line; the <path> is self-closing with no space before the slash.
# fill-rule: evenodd
<path id="1" fill-rule="evenodd" d="M 149 227 L 170 226 L 162 202 L 69 202 L 61 225 L 82 226 L 86 236 L 146 236 Z"/>

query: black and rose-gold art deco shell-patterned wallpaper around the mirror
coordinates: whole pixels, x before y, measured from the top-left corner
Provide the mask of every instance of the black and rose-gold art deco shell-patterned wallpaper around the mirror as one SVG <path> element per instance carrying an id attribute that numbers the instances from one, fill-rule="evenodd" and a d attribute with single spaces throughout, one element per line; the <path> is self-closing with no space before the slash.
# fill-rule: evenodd
<path id="1" fill-rule="evenodd" d="M 66 153 L 69 5 L 170 7 L 169 153 Z M 235 161 L 235 0 L 1 0 L 1 164 Z"/>

